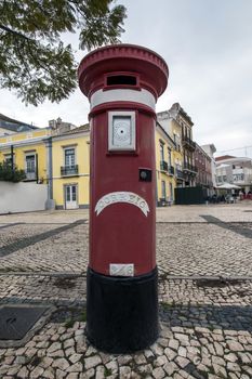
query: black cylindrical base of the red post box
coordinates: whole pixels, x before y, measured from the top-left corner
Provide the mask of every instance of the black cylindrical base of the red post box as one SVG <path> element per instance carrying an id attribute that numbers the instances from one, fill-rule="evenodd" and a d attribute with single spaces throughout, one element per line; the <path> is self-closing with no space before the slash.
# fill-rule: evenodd
<path id="1" fill-rule="evenodd" d="M 133 277 L 87 276 L 87 337 L 98 350 L 124 354 L 158 338 L 158 270 Z"/>

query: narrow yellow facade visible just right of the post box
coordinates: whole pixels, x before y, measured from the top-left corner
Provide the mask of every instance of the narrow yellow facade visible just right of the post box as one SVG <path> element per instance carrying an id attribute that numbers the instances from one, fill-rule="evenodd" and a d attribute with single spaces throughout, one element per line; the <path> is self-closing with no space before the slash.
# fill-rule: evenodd
<path id="1" fill-rule="evenodd" d="M 159 122 L 156 126 L 157 204 L 164 206 L 174 201 L 176 186 L 174 170 L 175 144 Z"/>

